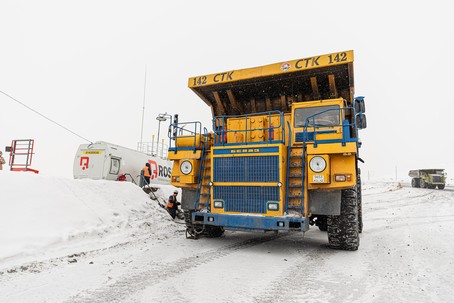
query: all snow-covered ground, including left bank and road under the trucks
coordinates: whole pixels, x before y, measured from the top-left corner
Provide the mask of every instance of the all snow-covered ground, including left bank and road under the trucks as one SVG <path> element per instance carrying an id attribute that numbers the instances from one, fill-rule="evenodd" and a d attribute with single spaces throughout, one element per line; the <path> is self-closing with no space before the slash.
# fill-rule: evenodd
<path id="1" fill-rule="evenodd" d="M 361 245 L 346 252 L 327 248 L 316 228 L 189 240 L 131 183 L 3 171 L 0 184 L 0 302 L 454 298 L 451 187 L 363 184 Z"/>

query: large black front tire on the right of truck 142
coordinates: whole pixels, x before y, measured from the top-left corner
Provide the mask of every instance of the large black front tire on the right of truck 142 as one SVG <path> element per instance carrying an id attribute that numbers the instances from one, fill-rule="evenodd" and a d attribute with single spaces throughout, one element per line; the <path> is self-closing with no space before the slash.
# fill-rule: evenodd
<path id="1" fill-rule="evenodd" d="M 359 224 L 356 190 L 342 190 L 341 213 L 328 216 L 328 242 L 333 249 L 358 250 Z"/>

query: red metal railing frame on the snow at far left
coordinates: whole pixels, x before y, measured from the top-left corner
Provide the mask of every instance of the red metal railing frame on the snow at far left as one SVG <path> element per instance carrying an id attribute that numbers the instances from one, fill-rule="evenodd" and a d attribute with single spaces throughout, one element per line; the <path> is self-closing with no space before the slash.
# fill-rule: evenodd
<path id="1" fill-rule="evenodd" d="M 34 155 L 34 146 L 35 140 L 33 139 L 13 140 L 9 149 L 10 170 L 30 171 L 38 174 L 38 170 L 30 168 Z"/>

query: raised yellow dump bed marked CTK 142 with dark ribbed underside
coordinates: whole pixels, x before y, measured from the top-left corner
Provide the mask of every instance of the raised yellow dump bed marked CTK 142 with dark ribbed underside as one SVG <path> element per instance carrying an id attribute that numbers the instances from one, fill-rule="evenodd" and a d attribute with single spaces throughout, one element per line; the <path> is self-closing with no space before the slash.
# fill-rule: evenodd
<path id="1" fill-rule="evenodd" d="M 192 77 L 188 86 L 212 108 L 214 116 L 287 113 L 292 102 L 339 97 L 350 103 L 353 51 Z"/>

